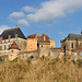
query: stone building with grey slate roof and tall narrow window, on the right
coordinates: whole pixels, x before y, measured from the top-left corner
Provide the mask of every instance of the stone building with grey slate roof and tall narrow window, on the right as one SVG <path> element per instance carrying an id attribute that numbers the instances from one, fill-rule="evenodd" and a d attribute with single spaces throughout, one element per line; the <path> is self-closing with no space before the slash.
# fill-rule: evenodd
<path id="1" fill-rule="evenodd" d="M 78 47 L 82 47 L 82 34 L 70 33 L 61 40 L 61 50 L 66 57 L 71 56 Z"/>

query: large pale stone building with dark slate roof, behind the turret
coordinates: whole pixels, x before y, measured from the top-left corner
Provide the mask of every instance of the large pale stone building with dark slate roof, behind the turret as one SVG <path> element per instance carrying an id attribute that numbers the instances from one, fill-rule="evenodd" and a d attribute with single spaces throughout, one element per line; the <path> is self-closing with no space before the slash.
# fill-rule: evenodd
<path id="1" fill-rule="evenodd" d="M 26 51 L 26 38 L 19 25 L 16 25 L 14 28 L 4 30 L 0 35 L 0 56 L 9 55 L 9 48 L 14 40 L 21 51 Z"/>

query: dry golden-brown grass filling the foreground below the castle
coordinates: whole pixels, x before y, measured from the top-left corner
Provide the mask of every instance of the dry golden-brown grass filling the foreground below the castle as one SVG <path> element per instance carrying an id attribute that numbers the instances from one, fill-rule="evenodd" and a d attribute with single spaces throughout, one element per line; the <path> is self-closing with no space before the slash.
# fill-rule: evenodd
<path id="1" fill-rule="evenodd" d="M 82 82 L 82 60 L 0 61 L 0 82 Z"/>

